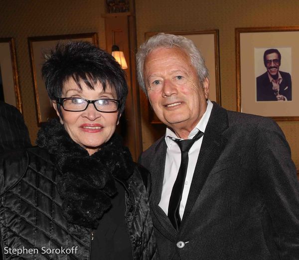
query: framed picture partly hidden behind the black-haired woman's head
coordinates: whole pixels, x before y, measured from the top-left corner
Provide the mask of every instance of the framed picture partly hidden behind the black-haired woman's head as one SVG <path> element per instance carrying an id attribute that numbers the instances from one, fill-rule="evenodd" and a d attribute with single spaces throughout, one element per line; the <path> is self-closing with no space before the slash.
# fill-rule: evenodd
<path id="1" fill-rule="evenodd" d="M 32 81 L 34 85 L 34 95 L 36 103 L 37 122 L 46 122 L 48 118 L 56 117 L 56 112 L 52 107 L 52 102 L 48 97 L 45 83 L 41 76 L 41 67 L 44 63 L 44 53 L 54 48 L 59 41 L 89 41 L 98 45 L 98 35 L 96 32 L 66 35 L 51 35 L 29 37 L 29 53 L 31 62 Z"/>

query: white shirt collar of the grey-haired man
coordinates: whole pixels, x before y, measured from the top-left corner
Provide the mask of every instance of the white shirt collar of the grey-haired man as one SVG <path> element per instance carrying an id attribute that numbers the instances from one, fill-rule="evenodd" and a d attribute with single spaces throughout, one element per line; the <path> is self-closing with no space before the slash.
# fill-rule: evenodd
<path id="1" fill-rule="evenodd" d="M 188 135 L 188 139 L 192 139 L 198 133 L 198 131 L 204 133 L 211 115 L 212 108 L 213 108 L 213 103 L 210 100 L 208 100 L 206 111 L 204 112 L 203 116 L 200 118 L 197 125 L 192 129 L 192 131 Z M 167 147 L 171 146 L 171 144 L 173 143 L 173 138 L 180 139 L 170 128 L 167 127 L 165 133 L 165 142 L 167 144 Z"/>

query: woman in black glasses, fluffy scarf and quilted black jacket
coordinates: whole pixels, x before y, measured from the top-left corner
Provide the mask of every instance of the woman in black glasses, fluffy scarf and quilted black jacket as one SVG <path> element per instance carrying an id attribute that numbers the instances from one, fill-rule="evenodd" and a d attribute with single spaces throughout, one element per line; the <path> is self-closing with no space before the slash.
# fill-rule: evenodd
<path id="1" fill-rule="evenodd" d="M 0 159 L 2 259 L 157 259 L 147 173 L 114 134 L 128 93 L 120 65 L 70 42 L 42 74 L 59 119 L 38 147 Z"/>

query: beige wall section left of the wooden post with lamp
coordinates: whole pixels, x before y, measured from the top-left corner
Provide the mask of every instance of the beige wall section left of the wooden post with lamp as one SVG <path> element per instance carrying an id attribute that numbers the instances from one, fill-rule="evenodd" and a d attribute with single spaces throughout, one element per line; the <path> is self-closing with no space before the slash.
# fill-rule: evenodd
<path id="1" fill-rule="evenodd" d="M 32 143 L 38 131 L 27 37 L 97 32 L 106 47 L 103 0 L 1 0 L 0 37 L 14 37 L 23 115 Z"/>

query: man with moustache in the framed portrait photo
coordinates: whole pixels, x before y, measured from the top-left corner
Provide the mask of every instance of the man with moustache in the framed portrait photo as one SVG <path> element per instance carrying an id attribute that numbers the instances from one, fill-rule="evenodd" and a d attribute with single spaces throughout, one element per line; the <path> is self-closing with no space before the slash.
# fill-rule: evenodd
<path id="1" fill-rule="evenodd" d="M 291 101 L 291 75 L 279 70 L 282 55 L 278 49 L 267 49 L 264 64 L 267 71 L 257 77 L 257 101 Z"/>

